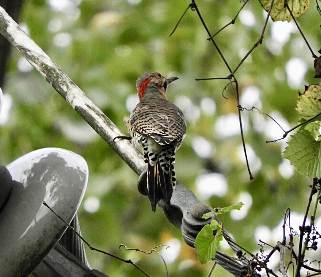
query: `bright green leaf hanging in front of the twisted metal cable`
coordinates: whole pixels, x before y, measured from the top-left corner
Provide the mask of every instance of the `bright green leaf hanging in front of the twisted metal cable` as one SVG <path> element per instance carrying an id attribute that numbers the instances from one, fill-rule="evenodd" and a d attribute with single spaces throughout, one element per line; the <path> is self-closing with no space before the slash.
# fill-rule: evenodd
<path id="1" fill-rule="evenodd" d="M 216 234 L 214 236 L 213 231 L 215 230 Z M 206 224 L 197 234 L 195 248 L 197 249 L 197 256 L 202 265 L 215 257 L 221 240 L 223 240 L 222 225 L 215 219 L 212 220 L 211 224 Z"/>

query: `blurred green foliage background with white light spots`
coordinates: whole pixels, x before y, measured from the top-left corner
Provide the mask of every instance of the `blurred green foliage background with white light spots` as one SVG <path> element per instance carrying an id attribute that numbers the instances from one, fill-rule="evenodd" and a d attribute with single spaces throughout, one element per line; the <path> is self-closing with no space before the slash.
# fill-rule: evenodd
<path id="1" fill-rule="evenodd" d="M 187 121 L 187 137 L 176 155 L 178 180 L 197 198 L 224 207 L 243 201 L 241 211 L 224 217 L 226 229 L 248 250 L 258 240 L 282 240 L 282 220 L 291 207 L 298 230 L 311 183 L 282 159 L 282 129 L 257 110 L 242 112 L 250 168 L 241 144 L 237 103 L 226 80 L 229 71 L 213 47 L 195 11 L 189 10 L 169 37 L 188 1 L 169 0 L 23 0 L 19 24 L 88 97 L 124 132 L 122 118 L 138 102 L 135 80 L 158 71 L 179 79 L 168 89 Z M 243 1 L 198 0 L 212 33 L 232 20 Z M 235 24 L 215 37 L 233 69 L 261 35 L 266 12 L 250 0 Z M 311 4 L 298 19 L 313 51 L 320 49 L 320 15 Z M 296 124 L 298 91 L 314 79 L 313 58 L 294 22 L 269 20 L 259 45 L 236 73 L 240 104 L 272 116 L 285 130 Z M 136 188 L 138 176 L 64 99 L 13 50 L 6 69 L 0 116 L 0 163 L 42 147 L 61 147 L 86 159 L 90 177 L 78 216 L 83 237 L 94 247 L 130 258 L 152 276 L 166 276 L 160 257 L 118 250 L 120 244 L 159 249 L 169 276 L 207 276 L 213 263 L 201 265 L 196 250 L 159 209 L 151 211 Z M 223 95 L 227 98 L 224 98 Z M 320 222 L 317 219 L 317 222 Z M 221 250 L 233 254 L 225 243 Z M 92 268 L 110 276 L 143 276 L 133 266 L 87 248 Z M 316 259 L 320 254 L 315 253 Z M 271 258 L 277 266 L 278 257 Z M 231 276 L 216 267 L 213 276 Z"/>

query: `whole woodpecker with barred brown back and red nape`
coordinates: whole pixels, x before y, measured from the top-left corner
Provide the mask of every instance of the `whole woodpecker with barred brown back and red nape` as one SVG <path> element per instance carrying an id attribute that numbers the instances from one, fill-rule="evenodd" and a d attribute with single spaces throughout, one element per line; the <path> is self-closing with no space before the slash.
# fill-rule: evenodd
<path id="1" fill-rule="evenodd" d="M 177 79 L 144 73 L 136 81 L 139 103 L 124 118 L 132 142 L 142 149 L 147 163 L 147 195 L 153 211 L 161 199 L 169 206 L 176 184 L 175 151 L 186 135 L 183 112 L 166 97 L 167 86 Z"/>

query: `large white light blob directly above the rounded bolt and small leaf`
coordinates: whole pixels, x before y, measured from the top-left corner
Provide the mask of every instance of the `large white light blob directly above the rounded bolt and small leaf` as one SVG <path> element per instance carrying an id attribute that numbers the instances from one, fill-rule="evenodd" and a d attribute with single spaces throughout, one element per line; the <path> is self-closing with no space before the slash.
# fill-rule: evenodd
<path id="1" fill-rule="evenodd" d="M 222 197 L 227 193 L 228 189 L 227 181 L 221 173 L 199 175 L 195 184 L 201 200 L 207 200 L 213 195 Z"/>

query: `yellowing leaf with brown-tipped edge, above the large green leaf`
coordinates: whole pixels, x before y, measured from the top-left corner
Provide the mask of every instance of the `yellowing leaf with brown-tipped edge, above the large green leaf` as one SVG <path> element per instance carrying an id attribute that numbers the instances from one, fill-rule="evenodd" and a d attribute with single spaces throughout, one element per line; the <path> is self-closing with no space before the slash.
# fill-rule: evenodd
<path id="1" fill-rule="evenodd" d="M 321 111 L 321 86 L 308 86 L 303 94 L 299 94 L 295 109 L 306 118 L 316 116 Z"/>

